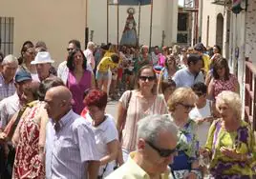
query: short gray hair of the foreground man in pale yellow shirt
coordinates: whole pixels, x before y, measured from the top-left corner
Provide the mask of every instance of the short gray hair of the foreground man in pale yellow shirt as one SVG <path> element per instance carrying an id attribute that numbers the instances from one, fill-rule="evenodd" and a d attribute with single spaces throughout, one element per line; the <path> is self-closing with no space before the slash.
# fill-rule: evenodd
<path id="1" fill-rule="evenodd" d="M 169 131 L 173 136 L 177 136 L 178 128 L 171 121 L 169 115 L 149 115 L 139 120 L 137 138 L 156 144 L 162 131 Z"/>

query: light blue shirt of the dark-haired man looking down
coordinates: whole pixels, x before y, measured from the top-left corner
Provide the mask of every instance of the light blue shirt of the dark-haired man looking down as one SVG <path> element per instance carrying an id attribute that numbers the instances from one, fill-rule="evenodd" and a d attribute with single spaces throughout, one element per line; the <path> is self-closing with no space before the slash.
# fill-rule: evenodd
<path id="1" fill-rule="evenodd" d="M 188 68 L 183 68 L 178 70 L 174 76 L 173 80 L 176 83 L 176 87 L 187 87 L 191 88 L 195 83 L 202 82 L 204 83 L 203 73 L 202 71 L 199 72 L 197 76 L 191 73 Z"/>

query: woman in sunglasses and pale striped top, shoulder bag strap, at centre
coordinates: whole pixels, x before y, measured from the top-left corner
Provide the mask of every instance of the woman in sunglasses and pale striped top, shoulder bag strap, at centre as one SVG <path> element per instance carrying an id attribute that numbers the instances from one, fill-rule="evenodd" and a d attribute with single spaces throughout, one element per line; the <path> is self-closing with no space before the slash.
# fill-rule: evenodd
<path id="1" fill-rule="evenodd" d="M 117 107 L 117 130 L 122 137 L 123 159 L 136 149 L 137 123 L 152 114 L 164 114 L 167 108 L 157 94 L 157 76 L 152 66 L 142 67 L 136 78 L 136 89 L 125 91 Z M 119 160 L 120 161 L 120 160 Z M 119 162 L 120 163 L 120 162 Z"/>

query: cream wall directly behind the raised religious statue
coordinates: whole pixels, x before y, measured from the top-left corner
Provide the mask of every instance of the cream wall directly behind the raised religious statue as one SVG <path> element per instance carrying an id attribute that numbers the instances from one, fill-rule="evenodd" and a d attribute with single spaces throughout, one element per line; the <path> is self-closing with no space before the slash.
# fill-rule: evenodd
<path id="1" fill-rule="evenodd" d="M 89 0 L 88 3 L 88 27 L 94 30 L 94 41 L 97 44 L 106 43 L 107 40 L 107 2 L 102 0 Z M 130 6 L 119 6 L 119 41 L 127 18 L 127 9 Z M 139 30 L 139 6 L 133 6 L 134 15 Z M 150 37 L 150 5 L 141 6 L 139 44 L 149 45 Z M 165 45 L 176 42 L 177 0 L 154 1 L 152 46 L 161 45 L 162 30 L 165 31 Z M 117 6 L 109 6 L 109 42 L 117 44 Z"/>

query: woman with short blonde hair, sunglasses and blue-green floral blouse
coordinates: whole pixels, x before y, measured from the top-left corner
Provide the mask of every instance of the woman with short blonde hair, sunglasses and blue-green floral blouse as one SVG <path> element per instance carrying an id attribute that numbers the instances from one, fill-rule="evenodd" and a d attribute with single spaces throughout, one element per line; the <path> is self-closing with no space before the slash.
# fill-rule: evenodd
<path id="1" fill-rule="evenodd" d="M 188 114 L 194 108 L 197 96 L 192 89 L 176 89 L 168 100 L 170 117 L 178 126 L 178 155 L 170 165 L 175 178 L 201 178 L 199 169 L 199 141 L 196 122 Z"/>

